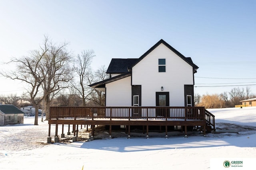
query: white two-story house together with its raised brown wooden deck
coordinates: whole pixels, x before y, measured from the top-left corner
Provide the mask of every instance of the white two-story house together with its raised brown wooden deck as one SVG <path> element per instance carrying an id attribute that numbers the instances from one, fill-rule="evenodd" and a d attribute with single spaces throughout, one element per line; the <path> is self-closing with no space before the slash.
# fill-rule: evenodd
<path id="1" fill-rule="evenodd" d="M 106 94 L 106 106 L 50 108 L 50 125 L 124 126 L 130 137 L 131 127 L 151 127 L 169 130 L 196 127 L 215 131 L 215 119 L 204 107 L 194 107 L 194 73 L 198 66 L 190 57 L 184 57 L 164 40 L 158 41 L 139 58 L 112 59 L 107 72 L 110 78 L 90 84 Z M 68 119 L 65 119 L 68 118 Z M 144 131 L 144 130 L 143 130 Z M 75 135 L 75 133 L 74 133 Z M 76 134 L 76 136 L 78 136 Z"/>

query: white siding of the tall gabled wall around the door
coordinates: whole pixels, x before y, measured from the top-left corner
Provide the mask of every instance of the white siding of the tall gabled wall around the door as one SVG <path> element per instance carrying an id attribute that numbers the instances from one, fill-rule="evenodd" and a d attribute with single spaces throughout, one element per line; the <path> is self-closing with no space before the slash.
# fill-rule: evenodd
<path id="1" fill-rule="evenodd" d="M 166 59 L 166 72 L 158 72 Z M 162 43 L 132 68 L 132 84 L 142 86 L 142 106 L 156 106 L 156 92 L 170 93 L 170 106 L 184 106 L 184 84 L 193 84 L 193 67 Z"/>

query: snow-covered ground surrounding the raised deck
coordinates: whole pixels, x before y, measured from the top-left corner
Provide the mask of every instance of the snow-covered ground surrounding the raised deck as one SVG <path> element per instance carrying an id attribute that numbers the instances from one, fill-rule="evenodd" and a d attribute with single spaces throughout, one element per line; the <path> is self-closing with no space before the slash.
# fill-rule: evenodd
<path id="1" fill-rule="evenodd" d="M 243 167 L 228 169 L 254 169 L 249 165 L 256 162 L 256 107 L 208 110 L 216 116 L 217 131 L 233 129 L 239 134 L 46 144 L 48 122 L 34 126 L 34 118 L 25 117 L 23 125 L 0 127 L 0 170 L 227 169 L 225 160 L 243 161 Z"/>

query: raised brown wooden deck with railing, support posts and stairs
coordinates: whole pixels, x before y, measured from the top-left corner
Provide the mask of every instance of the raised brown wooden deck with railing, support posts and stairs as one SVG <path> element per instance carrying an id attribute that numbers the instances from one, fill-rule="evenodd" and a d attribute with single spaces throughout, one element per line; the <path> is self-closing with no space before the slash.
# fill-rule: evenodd
<path id="1" fill-rule="evenodd" d="M 63 127 L 70 125 L 74 137 L 78 137 L 78 125 L 90 125 L 92 137 L 94 137 L 95 125 L 109 125 L 111 137 L 112 125 L 125 125 L 130 137 L 130 126 L 146 126 L 148 137 L 149 126 L 165 126 L 166 136 L 168 126 L 184 127 L 185 136 L 188 126 L 197 126 L 203 129 L 206 134 L 206 127 L 210 126 L 215 130 L 214 115 L 204 107 L 72 107 L 72 106 L 52 106 L 50 107 L 49 133 L 51 125 L 55 127 L 55 137 L 58 137 L 58 125 L 62 125 L 62 137 L 64 136 Z"/>

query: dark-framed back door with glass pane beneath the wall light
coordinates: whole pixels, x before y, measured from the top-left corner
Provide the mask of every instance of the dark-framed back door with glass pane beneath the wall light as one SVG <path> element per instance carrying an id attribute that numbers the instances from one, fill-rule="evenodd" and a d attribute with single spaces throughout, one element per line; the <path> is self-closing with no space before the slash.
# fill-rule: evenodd
<path id="1" fill-rule="evenodd" d="M 169 92 L 156 92 L 156 106 L 169 106 Z M 167 112 L 166 108 L 159 107 L 156 109 L 156 116 L 165 117 L 166 114 L 169 115 L 169 109 Z"/>

